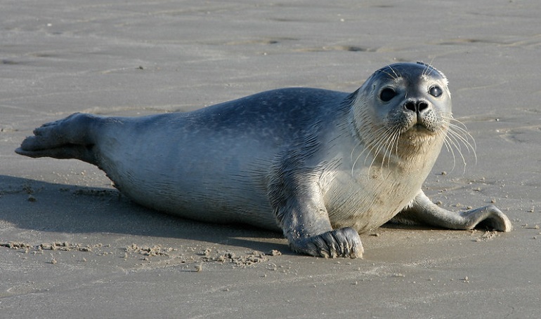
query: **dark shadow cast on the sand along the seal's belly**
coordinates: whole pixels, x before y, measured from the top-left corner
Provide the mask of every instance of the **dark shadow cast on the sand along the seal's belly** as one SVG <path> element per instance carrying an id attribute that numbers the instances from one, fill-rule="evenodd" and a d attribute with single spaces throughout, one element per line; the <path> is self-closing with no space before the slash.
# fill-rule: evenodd
<path id="1" fill-rule="evenodd" d="M 53 184 L 6 175 L 0 175 L 0 221 L 35 231 L 124 233 L 290 252 L 280 233 L 166 215 L 133 203 L 115 189 Z"/>

